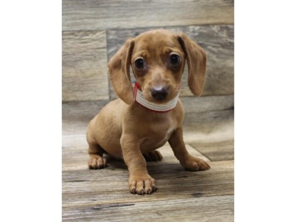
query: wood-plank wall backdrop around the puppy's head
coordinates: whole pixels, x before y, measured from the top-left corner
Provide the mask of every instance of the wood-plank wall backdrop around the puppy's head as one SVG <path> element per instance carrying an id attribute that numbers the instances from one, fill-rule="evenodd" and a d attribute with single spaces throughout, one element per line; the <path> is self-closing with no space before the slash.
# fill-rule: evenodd
<path id="1" fill-rule="evenodd" d="M 63 0 L 62 18 L 63 102 L 105 104 L 117 98 L 108 78 L 109 59 L 128 37 L 156 28 L 182 31 L 206 50 L 202 96 L 218 96 L 209 103 L 233 95 L 233 0 Z M 192 109 L 199 106 L 187 86 L 187 69 L 181 97 L 194 102 Z"/>

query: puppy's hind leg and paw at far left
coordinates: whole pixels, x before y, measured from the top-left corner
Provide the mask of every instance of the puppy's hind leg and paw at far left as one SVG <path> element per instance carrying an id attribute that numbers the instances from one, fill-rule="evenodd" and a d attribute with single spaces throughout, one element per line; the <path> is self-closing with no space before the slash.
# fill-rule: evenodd
<path id="1" fill-rule="evenodd" d="M 97 143 L 88 142 L 88 167 L 89 169 L 102 169 L 106 167 L 106 158 L 103 158 L 103 148 Z"/>

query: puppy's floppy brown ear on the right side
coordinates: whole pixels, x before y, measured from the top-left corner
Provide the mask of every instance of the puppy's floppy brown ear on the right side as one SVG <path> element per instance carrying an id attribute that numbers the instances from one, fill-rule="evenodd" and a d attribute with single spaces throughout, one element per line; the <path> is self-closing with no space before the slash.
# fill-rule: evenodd
<path id="1" fill-rule="evenodd" d="M 200 96 L 205 84 L 207 54 L 184 33 L 178 36 L 178 40 L 182 45 L 187 60 L 188 86 L 195 96 Z"/>

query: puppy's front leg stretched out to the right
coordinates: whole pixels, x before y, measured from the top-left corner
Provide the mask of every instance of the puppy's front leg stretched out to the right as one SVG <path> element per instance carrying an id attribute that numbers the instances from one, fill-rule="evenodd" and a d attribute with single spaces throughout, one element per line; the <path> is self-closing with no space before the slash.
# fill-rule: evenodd
<path id="1" fill-rule="evenodd" d="M 186 170 L 199 171 L 210 169 L 210 166 L 203 159 L 191 156 L 186 150 L 185 143 L 183 141 L 182 126 L 177 128 L 172 133 L 169 139 L 169 144 L 171 145 L 175 156 Z"/>

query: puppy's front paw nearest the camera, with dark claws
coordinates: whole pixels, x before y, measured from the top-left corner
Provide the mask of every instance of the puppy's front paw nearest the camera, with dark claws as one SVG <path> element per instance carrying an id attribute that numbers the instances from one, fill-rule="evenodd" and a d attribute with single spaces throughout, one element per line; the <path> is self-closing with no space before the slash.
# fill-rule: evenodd
<path id="1" fill-rule="evenodd" d="M 155 180 L 149 174 L 131 174 L 129 190 L 133 194 L 151 194 L 156 190 Z"/>

